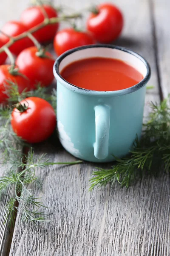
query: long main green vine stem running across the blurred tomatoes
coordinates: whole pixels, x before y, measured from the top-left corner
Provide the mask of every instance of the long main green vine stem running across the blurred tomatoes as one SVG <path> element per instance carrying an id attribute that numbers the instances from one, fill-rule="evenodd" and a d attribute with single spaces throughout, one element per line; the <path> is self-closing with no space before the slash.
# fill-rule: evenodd
<path id="1" fill-rule="evenodd" d="M 23 32 L 20 35 L 17 35 L 15 37 L 10 38 L 10 40 L 3 46 L 0 48 L 0 53 L 5 51 L 5 47 L 9 48 L 12 44 L 14 44 L 14 42 L 23 39 L 25 37 L 28 37 L 28 33 L 32 34 L 34 32 L 36 32 L 39 29 L 42 29 L 43 27 L 49 25 L 49 24 L 55 24 L 58 23 L 60 21 L 67 21 L 68 19 L 75 19 L 75 18 L 80 18 L 82 17 L 82 15 L 80 13 L 74 13 L 72 15 L 63 15 L 62 17 L 53 17 L 50 19 L 45 18 L 42 23 L 40 23 L 37 26 L 34 26 L 33 28 L 29 29 L 26 32 Z"/>

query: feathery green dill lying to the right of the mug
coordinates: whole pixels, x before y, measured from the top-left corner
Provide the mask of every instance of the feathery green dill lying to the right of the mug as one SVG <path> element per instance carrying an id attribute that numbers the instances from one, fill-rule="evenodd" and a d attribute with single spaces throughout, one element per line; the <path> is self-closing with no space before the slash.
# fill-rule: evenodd
<path id="1" fill-rule="evenodd" d="M 169 99 L 151 104 L 149 119 L 143 125 L 142 139 L 136 138 L 129 155 L 116 158 L 111 169 L 97 168 L 90 179 L 90 189 L 113 185 L 116 181 L 128 188 L 144 172 L 156 174 L 162 168 L 170 172 L 170 108 Z"/>

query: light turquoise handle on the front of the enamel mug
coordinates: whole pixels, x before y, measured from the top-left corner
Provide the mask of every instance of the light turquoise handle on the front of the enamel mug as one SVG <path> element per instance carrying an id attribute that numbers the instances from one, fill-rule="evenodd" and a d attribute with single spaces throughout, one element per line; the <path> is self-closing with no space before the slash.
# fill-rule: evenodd
<path id="1" fill-rule="evenodd" d="M 108 157 L 110 108 L 107 105 L 97 105 L 95 108 L 96 142 L 94 156 L 97 159 Z"/>

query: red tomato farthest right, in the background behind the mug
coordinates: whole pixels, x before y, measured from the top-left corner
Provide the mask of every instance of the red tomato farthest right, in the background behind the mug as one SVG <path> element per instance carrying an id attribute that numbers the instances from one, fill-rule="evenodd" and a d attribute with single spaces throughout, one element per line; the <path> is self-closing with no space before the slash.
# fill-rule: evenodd
<path id="1" fill-rule="evenodd" d="M 101 43 L 115 40 L 123 28 L 123 15 L 119 9 L 109 3 L 97 6 L 97 14 L 91 13 L 87 20 L 87 29 Z"/>

